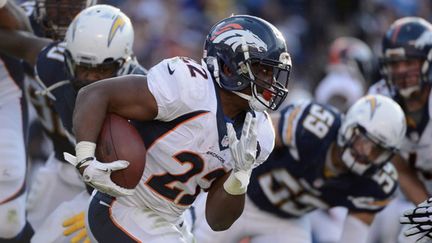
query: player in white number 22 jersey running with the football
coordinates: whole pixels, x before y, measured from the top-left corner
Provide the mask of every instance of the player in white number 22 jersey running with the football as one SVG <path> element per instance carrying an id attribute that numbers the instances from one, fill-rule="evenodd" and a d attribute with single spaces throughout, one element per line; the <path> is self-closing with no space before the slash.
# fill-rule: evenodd
<path id="1" fill-rule="evenodd" d="M 252 169 L 273 149 L 265 113 L 287 95 L 291 59 L 281 32 L 248 15 L 211 28 L 199 64 L 166 59 L 147 77 L 127 76 L 81 89 L 74 111 L 76 158 L 94 191 L 88 231 L 99 242 L 192 242 L 182 213 L 209 191 L 206 218 L 228 229 L 241 215 Z M 133 119 L 147 148 L 134 190 L 110 179 L 127 161 L 101 163 L 96 138 L 107 112 Z"/>

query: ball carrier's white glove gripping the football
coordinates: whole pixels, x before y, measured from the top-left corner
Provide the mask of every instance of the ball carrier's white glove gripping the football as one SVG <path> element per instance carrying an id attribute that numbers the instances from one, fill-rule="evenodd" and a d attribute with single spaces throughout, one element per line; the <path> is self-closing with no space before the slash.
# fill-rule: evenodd
<path id="1" fill-rule="evenodd" d="M 94 157 L 89 157 L 84 159 L 84 162 L 79 162 L 75 156 L 69 153 L 63 153 L 63 155 L 67 162 L 75 167 L 78 166 L 78 169 L 82 166 L 87 166 L 83 172 L 83 180 L 97 190 L 114 197 L 130 196 L 134 194 L 135 189 L 123 188 L 111 180 L 111 172 L 128 167 L 129 162 L 117 160 L 110 163 L 101 163 Z"/>

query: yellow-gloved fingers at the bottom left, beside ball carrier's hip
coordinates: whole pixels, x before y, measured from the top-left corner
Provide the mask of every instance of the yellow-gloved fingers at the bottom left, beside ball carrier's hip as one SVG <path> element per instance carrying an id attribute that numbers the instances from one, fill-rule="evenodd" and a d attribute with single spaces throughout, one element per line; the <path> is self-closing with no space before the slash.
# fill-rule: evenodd
<path id="1" fill-rule="evenodd" d="M 64 236 L 76 234 L 71 239 L 71 243 L 90 243 L 90 238 L 87 236 L 87 230 L 85 228 L 84 212 L 76 214 L 65 221 L 63 221 L 63 227 L 66 228 L 63 231 Z"/>

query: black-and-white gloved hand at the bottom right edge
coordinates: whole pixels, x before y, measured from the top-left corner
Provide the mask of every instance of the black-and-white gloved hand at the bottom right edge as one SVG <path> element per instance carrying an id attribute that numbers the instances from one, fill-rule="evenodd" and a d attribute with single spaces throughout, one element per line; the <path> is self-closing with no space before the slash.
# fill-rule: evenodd
<path id="1" fill-rule="evenodd" d="M 432 198 L 405 211 L 399 221 L 401 224 L 412 226 L 405 230 L 406 236 L 419 235 L 416 242 L 430 242 L 432 240 Z"/>

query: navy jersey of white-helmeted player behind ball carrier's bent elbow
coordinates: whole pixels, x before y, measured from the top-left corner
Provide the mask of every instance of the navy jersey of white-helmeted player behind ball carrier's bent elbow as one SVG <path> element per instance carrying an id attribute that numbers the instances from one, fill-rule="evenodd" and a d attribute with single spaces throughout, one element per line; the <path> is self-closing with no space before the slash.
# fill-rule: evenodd
<path id="1" fill-rule="evenodd" d="M 65 42 L 53 42 L 39 53 L 34 67 L 37 82 L 29 82 L 27 89 L 60 160 L 63 160 L 63 152 L 75 151 L 72 115 L 76 91 L 69 81 L 64 63 L 65 45 Z M 125 64 L 124 69 L 122 74 L 147 73 L 135 59 Z"/>

